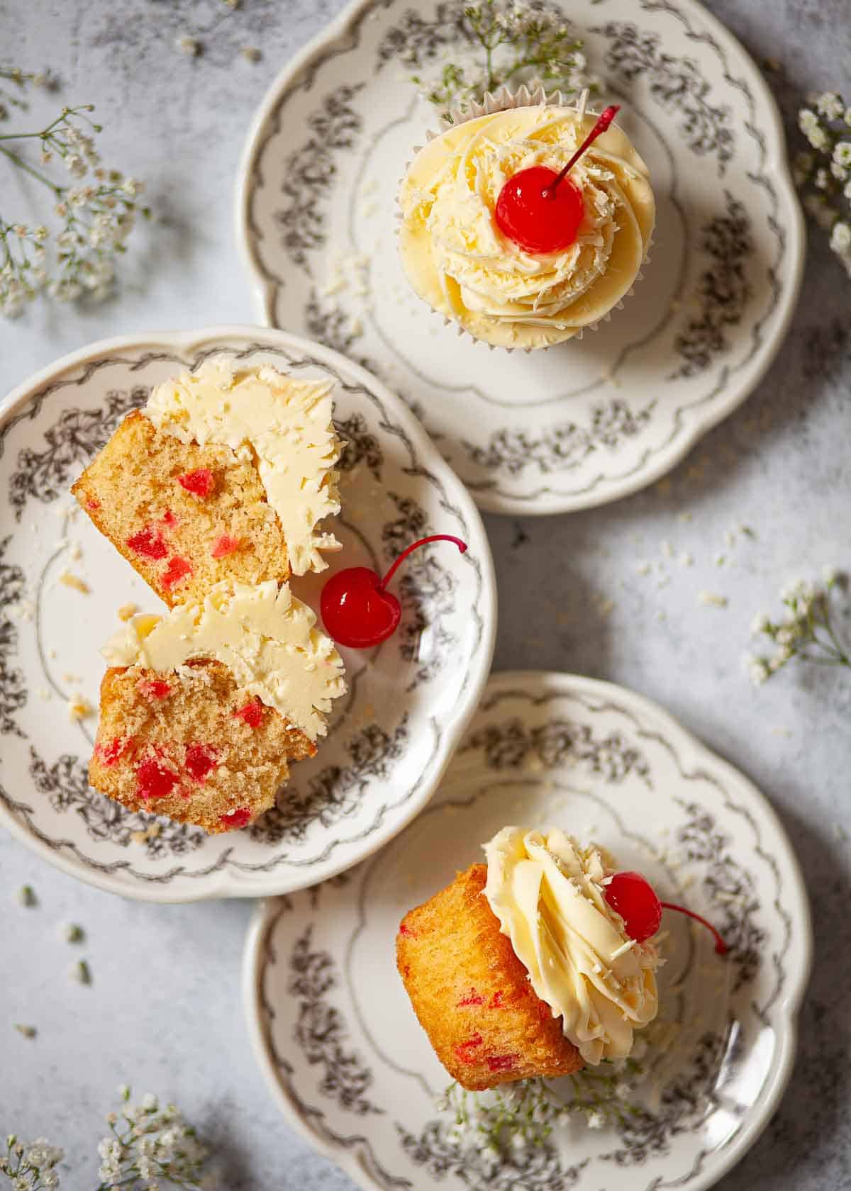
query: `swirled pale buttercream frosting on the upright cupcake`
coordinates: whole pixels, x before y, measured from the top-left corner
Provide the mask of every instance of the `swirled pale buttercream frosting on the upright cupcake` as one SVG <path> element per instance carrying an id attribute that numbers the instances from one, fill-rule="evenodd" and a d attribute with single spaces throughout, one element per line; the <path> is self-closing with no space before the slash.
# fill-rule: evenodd
<path id="1" fill-rule="evenodd" d="M 399 243 L 421 298 L 479 339 L 536 348 L 596 323 L 629 292 L 656 205 L 647 167 L 617 126 L 571 170 L 584 218 L 569 248 L 524 251 L 493 217 L 510 177 L 532 166 L 559 170 L 595 120 L 572 107 L 513 107 L 466 120 L 420 150 L 402 183 Z"/>

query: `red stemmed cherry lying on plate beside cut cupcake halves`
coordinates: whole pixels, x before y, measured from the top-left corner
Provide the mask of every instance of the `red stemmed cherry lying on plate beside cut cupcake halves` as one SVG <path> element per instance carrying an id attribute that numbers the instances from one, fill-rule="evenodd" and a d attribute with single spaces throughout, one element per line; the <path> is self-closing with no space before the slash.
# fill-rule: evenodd
<path id="1" fill-rule="evenodd" d="M 347 567 L 328 580 L 319 606 L 325 629 L 337 644 L 368 649 L 393 635 L 402 617 L 402 605 L 386 590 L 387 584 L 408 555 L 427 542 L 454 542 L 461 554 L 467 549 L 460 537 L 433 534 L 403 550 L 384 579 L 371 567 Z"/>

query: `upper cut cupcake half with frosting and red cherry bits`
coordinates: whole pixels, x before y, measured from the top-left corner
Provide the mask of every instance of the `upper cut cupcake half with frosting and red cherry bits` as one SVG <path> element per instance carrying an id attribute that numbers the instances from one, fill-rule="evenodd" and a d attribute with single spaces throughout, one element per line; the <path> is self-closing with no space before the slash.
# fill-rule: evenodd
<path id="1" fill-rule="evenodd" d="M 223 579 L 323 570 L 340 549 L 331 381 L 206 362 L 157 385 L 72 492 L 169 606 Z"/>

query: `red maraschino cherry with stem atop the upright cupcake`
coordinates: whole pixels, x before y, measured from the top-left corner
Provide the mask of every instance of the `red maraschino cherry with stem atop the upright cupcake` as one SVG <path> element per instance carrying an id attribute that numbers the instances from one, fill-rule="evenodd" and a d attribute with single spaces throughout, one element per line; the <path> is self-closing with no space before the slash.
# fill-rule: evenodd
<path id="1" fill-rule="evenodd" d="M 576 239 L 585 213 L 582 191 L 567 177 L 577 161 L 620 111 L 613 104 L 601 113 L 589 135 L 564 169 L 530 166 L 509 177 L 497 199 L 493 216 L 499 231 L 527 252 L 558 252 Z"/>

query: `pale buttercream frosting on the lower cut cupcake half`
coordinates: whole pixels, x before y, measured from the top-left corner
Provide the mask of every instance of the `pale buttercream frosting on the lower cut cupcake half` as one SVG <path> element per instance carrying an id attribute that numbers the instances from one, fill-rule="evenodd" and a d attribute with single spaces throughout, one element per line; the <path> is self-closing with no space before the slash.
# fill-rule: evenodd
<path id="1" fill-rule="evenodd" d="M 210 588 L 203 604 L 180 604 L 164 616 L 135 616 L 103 654 L 110 666 L 160 672 L 193 660 L 219 661 L 241 687 L 312 741 L 325 735 L 331 700 L 346 692 L 334 642 L 316 628 L 312 610 L 274 580 L 225 580 Z"/>

